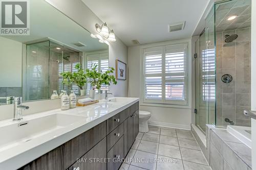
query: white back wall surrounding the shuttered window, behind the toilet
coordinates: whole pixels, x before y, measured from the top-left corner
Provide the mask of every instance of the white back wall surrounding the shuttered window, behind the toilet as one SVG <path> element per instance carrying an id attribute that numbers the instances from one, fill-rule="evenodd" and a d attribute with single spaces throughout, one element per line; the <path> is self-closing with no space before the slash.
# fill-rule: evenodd
<path id="1" fill-rule="evenodd" d="M 172 41 L 170 41 L 172 42 Z M 140 97 L 141 91 L 141 60 L 140 60 L 140 47 L 128 47 L 128 69 L 129 69 L 129 97 Z M 190 56 L 189 56 L 190 57 Z M 190 69 L 191 69 L 191 63 Z M 191 70 L 189 70 L 191 72 Z M 191 86 L 191 83 L 190 83 Z M 191 89 L 191 87 L 189 87 Z M 190 91 L 191 92 L 191 91 Z M 191 93 L 190 93 L 191 98 Z M 191 100 L 191 99 L 190 99 Z M 155 106 L 142 106 L 140 110 L 150 111 L 152 116 L 149 120 L 151 125 L 190 129 L 191 124 L 191 108 L 170 108 L 170 107 L 155 107 Z M 194 116 L 194 114 L 193 114 Z"/>

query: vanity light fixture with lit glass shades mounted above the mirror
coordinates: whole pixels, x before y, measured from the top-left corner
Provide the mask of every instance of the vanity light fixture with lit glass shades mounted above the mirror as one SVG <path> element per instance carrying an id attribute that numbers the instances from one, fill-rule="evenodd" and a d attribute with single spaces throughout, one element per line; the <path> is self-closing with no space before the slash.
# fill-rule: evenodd
<path id="1" fill-rule="evenodd" d="M 102 26 L 100 26 L 100 25 L 98 25 L 98 23 L 96 23 L 95 29 L 106 40 L 111 41 L 111 42 L 115 42 L 116 41 L 116 36 L 114 34 L 114 31 L 113 30 L 110 31 L 108 26 L 106 26 L 106 22 L 103 23 Z"/>

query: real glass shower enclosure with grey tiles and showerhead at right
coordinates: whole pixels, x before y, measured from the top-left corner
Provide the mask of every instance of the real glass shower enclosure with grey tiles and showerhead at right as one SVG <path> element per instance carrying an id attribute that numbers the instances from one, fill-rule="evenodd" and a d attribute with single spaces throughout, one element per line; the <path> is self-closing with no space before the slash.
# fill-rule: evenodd
<path id="1" fill-rule="evenodd" d="M 196 125 L 250 126 L 251 1 L 218 2 L 196 42 Z"/>

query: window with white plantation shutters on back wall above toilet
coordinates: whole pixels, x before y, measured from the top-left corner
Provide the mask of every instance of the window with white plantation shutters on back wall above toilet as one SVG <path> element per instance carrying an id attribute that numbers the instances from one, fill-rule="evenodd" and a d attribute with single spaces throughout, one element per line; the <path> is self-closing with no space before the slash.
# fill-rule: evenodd
<path id="1" fill-rule="evenodd" d="M 143 103 L 188 105 L 188 43 L 143 49 Z"/>

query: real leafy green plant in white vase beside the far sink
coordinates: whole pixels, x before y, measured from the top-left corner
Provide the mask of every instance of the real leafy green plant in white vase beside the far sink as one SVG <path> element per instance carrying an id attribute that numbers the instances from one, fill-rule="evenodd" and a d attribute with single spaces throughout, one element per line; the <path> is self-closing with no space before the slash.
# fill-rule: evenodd
<path id="1" fill-rule="evenodd" d="M 96 89 L 99 90 L 102 84 L 110 85 L 112 82 L 117 84 L 115 76 L 110 75 L 115 70 L 113 67 L 109 67 L 110 70 L 105 72 L 97 71 L 97 67 L 98 65 L 93 64 L 91 69 L 86 69 L 86 77 L 91 83 L 90 98 L 94 98 Z"/>

